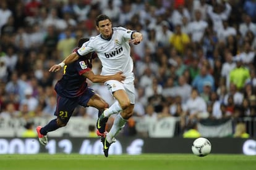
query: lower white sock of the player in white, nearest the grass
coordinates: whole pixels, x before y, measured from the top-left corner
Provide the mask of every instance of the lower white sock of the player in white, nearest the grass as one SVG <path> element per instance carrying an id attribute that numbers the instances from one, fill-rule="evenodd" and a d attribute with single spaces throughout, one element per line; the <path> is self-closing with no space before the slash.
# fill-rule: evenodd
<path id="1" fill-rule="evenodd" d="M 106 139 L 108 141 L 112 141 L 113 137 L 115 137 L 118 134 L 118 132 L 121 131 L 122 127 L 124 127 L 124 124 L 126 123 L 127 119 L 122 118 L 120 113 L 116 115 L 116 118 L 114 118 L 113 126 L 106 135 Z"/>

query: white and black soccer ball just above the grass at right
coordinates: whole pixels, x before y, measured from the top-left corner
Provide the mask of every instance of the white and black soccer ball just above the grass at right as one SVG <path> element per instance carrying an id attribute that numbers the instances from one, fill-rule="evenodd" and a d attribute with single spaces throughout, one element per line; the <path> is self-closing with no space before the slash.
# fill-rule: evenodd
<path id="1" fill-rule="evenodd" d="M 199 137 L 194 140 L 192 152 L 197 156 L 207 156 L 211 152 L 211 143 L 204 137 Z"/>

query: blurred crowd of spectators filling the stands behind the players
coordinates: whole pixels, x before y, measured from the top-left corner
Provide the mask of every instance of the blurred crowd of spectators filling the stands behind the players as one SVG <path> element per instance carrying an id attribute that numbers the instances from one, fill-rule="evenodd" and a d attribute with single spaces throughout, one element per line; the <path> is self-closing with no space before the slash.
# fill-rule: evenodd
<path id="1" fill-rule="evenodd" d="M 62 72 L 48 69 L 80 38 L 98 34 L 95 17 L 102 13 L 113 26 L 143 34 L 131 45 L 134 116 L 176 116 L 183 132 L 199 119 L 256 115 L 254 0 L 1 0 L 0 118 L 54 114 Z M 95 59 L 94 73 L 100 68 Z M 103 84 L 88 83 L 113 103 Z M 79 107 L 74 116 L 98 112 Z"/>

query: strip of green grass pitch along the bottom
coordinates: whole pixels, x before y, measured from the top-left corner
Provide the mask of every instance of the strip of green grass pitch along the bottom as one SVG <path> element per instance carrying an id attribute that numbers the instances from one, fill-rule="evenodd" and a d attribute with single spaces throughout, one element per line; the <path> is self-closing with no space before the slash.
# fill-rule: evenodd
<path id="1" fill-rule="evenodd" d="M 38 154 L 0 155 L 0 169 L 256 169 L 256 156 L 216 155 L 198 157 L 193 154 L 142 154 L 142 155 L 79 155 Z"/>

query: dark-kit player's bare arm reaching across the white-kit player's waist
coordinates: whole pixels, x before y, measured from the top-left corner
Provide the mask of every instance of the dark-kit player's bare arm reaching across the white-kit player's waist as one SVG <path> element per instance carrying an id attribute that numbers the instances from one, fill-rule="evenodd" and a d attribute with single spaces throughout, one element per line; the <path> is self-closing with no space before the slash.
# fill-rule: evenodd
<path id="1" fill-rule="evenodd" d="M 122 72 L 109 76 L 101 76 L 95 75 L 93 71 L 87 71 L 86 73 L 83 73 L 83 76 L 90 79 L 90 81 L 92 81 L 93 83 L 104 83 L 105 81 L 108 81 L 110 79 L 114 79 L 117 81 L 123 81 L 124 79 L 126 79 L 126 76 L 124 76 Z"/>

